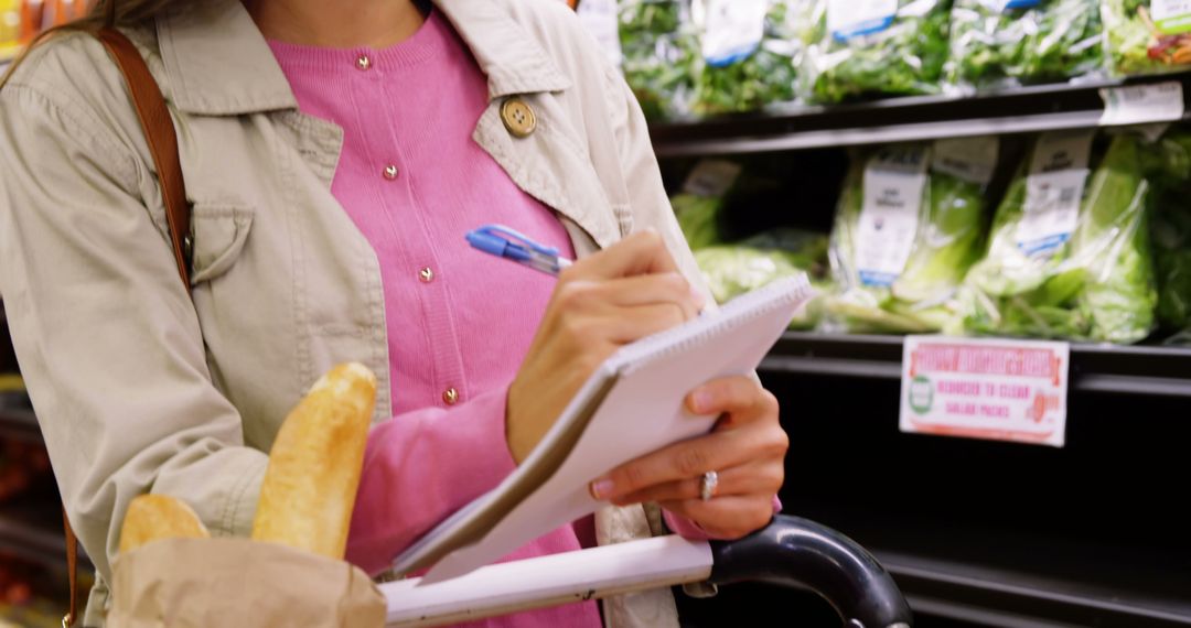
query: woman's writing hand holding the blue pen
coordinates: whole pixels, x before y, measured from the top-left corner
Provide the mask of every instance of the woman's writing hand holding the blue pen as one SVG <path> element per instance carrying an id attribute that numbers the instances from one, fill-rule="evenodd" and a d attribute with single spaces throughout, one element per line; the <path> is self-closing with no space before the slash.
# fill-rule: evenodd
<path id="1" fill-rule="evenodd" d="M 562 271 L 509 387 L 505 437 L 517 464 L 609 356 L 697 316 L 703 304 L 653 231 L 629 236 Z"/>

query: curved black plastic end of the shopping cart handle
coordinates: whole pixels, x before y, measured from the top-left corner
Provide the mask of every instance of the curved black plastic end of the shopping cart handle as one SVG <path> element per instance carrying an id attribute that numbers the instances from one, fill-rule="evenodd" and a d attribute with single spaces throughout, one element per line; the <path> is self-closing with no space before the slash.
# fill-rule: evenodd
<path id="1" fill-rule="evenodd" d="M 809 589 L 825 598 L 848 628 L 912 624 L 893 578 L 863 547 L 800 517 L 778 515 L 737 541 L 713 541 L 712 584 L 767 582 Z"/>

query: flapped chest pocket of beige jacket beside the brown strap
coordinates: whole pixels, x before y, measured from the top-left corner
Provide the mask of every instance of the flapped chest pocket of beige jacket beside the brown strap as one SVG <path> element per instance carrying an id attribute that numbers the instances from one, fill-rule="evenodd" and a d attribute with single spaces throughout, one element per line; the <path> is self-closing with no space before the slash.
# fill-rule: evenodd
<path id="1" fill-rule="evenodd" d="M 195 203 L 191 214 L 194 233 L 191 284 L 227 272 L 244 250 L 251 226 L 252 211 L 247 207 Z"/>

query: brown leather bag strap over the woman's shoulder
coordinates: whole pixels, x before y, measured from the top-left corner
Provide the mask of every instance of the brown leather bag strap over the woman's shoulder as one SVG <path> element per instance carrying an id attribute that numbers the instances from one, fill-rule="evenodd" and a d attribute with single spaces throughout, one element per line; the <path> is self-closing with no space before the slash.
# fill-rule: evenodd
<path id="1" fill-rule="evenodd" d="M 141 120 L 149 143 L 149 152 L 157 167 L 157 178 L 161 182 L 161 194 L 166 202 L 166 222 L 169 225 L 169 239 L 174 249 L 174 262 L 177 263 L 177 275 L 187 294 L 191 291 L 191 206 L 186 202 L 186 183 L 182 178 L 182 165 L 177 157 L 177 134 L 174 120 L 169 117 L 169 107 L 161 94 L 161 88 L 149 73 L 149 67 L 141 52 L 123 33 L 116 29 L 100 29 L 96 33 L 116 64 L 119 65 L 124 80 L 132 94 L 132 103 Z M 63 628 L 79 621 L 79 540 L 66 507 L 62 508 L 62 525 L 67 540 L 67 578 L 70 583 L 70 613 L 62 618 Z"/>

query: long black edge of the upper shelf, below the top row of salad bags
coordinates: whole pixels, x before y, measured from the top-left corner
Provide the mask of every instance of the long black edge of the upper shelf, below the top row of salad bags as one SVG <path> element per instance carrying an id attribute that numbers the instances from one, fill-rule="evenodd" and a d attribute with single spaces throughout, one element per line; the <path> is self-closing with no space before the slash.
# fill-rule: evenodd
<path id="1" fill-rule="evenodd" d="M 766 114 L 659 124 L 650 128 L 650 134 L 660 157 L 693 157 L 1090 128 L 1099 126 L 1104 113 L 1100 88 L 1164 81 L 1183 82 L 1184 99 L 1191 96 L 1191 74 L 1183 73 L 1037 86 L 967 98 L 913 96 L 831 107 L 788 107 Z"/>

